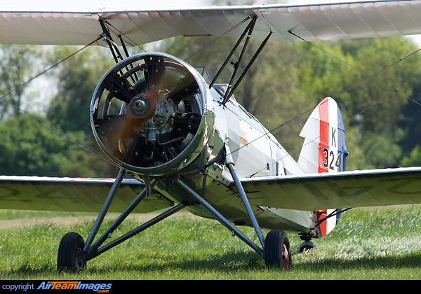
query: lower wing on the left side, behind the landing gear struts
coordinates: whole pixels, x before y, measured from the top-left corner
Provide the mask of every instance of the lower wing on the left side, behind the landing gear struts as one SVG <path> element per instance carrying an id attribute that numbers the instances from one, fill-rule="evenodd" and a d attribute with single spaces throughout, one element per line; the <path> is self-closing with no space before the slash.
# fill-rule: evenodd
<path id="1" fill-rule="evenodd" d="M 100 211 L 114 179 L 74 179 L 36 176 L 0 176 L 0 209 L 41 211 Z M 136 180 L 123 180 L 110 212 L 122 212 L 145 187 Z M 172 207 L 165 197 L 145 197 L 133 212 L 147 213 Z"/>

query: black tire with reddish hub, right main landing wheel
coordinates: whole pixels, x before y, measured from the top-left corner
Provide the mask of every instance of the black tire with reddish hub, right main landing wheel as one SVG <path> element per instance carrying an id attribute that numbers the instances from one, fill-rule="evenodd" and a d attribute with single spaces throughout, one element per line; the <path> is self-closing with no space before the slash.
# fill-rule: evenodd
<path id="1" fill-rule="evenodd" d="M 283 230 L 272 230 L 265 240 L 265 263 L 269 267 L 288 269 L 293 265 L 288 237 Z"/>

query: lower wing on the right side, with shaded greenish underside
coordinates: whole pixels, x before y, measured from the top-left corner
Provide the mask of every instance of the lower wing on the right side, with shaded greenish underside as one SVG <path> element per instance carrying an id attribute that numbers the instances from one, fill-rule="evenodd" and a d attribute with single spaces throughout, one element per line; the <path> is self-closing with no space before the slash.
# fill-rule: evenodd
<path id="1" fill-rule="evenodd" d="M 250 203 L 263 207 L 312 211 L 421 203 L 421 167 L 262 176 L 241 183 Z"/>

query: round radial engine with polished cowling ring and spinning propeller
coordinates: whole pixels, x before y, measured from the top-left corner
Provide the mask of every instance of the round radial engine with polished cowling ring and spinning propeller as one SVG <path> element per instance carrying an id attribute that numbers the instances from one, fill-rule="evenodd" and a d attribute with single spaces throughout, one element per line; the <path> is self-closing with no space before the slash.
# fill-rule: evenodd
<path id="1" fill-rule="evenodd" d="M 133 55 L 102 77 L 91 102 L 100 148 L 136 174 L 179 172 L 213 130 L 210 93 L 189 64 L 164 53 Z"/>

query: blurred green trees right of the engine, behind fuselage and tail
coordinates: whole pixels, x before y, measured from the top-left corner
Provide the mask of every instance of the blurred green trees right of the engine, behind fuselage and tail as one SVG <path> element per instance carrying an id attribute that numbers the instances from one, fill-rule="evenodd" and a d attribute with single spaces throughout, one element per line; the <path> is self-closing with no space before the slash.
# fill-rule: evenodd
<path id="1" fill-rule="evenodd" d="M 163 50 L 195 66 L 206 64 L 213 76 L 236 38 L 218 44 L 210 38 L 173 38 Z M 259 44 L 251 42 L 246 60 Z M 192 48 L 200 48 L 200 54 Z M 417 50 L 406 37 L 269 42 L 235 96 L 296 159 L 302 146 L 298 134 L 309 111 L 330 96 L 345 121 L 348 169 L 418 165 L 421 53 Z M 229 80 L 229 73 L 220 80 Z"/>

